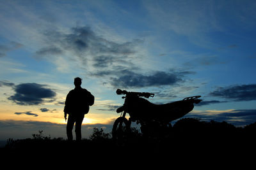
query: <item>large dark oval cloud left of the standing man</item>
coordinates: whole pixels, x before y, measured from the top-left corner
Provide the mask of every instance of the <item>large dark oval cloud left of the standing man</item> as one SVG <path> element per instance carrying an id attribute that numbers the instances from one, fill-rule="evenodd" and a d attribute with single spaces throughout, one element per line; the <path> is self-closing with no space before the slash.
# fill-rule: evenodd
<path id="1" fill-rule="evenodd" d="M 8 97 L 9 100 L 19 105 L 42 104 L 47 99 L 54 100 L 56 93 L 47 88 L 47 85 L 38 83 L 22 83 L 13 87 L 15 94 Z"/>

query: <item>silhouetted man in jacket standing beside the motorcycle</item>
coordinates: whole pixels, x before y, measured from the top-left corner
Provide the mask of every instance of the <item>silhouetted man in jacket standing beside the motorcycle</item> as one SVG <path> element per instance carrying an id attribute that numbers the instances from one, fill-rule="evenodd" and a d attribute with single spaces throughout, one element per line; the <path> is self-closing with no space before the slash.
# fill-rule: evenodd
<path id="1" fill-rule="evenodd" d="M 74 79 L 75 89 L 68 92 L 65 101 L 64 118 L 67 120 L 67 136 L 68 140 L 73 140 L 72 129 L 76 122 L 76 140 L 79 141 L 82 138 L 81 127 L 84 119 L 84 114 L 89 111 L 89 106 L 94 103 L 94 96 L 86 89 L 81 87 L 82 79 L 77 77 Z"/>

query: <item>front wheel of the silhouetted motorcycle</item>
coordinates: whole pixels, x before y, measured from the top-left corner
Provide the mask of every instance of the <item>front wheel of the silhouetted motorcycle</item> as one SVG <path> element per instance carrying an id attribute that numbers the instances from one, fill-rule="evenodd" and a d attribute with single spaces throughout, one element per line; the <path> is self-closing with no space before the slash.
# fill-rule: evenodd
<path id="1" fill-rule="evenodd" d="M 112 138 L 115 140 L 124 140 L 131 131 L 131 123 L 124 117 L 116 118 L 113 129 Z"/>

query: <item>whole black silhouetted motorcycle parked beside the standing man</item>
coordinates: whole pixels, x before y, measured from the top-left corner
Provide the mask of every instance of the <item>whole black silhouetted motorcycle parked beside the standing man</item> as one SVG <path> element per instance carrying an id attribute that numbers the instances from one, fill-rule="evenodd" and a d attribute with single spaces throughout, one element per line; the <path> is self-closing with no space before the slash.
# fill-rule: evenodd
<path id="1" fill-rule="evenodd" d="M 113 139 L 121 139 L 131 132 L 131 122 L 140 124 L 141 133 L 145 136 L 161 136 L 172 127 L 173 120 L 184 117 L 194 108 L 194 103 L 202 101 L 201 96 L 186 97 L 181 101 L 175 101 L 166 104 L 150 103 L 147 99 L 154 97 L 154 94 L 148 92 L 127 92 L 126 90 L 116 90 L 116 94 L 125 95 L 124 105 L 116 110 L 121 113 L 116 118 L 112 136 Z M 145 98 L 143 98 L 145 97 Z M 129 120 L 125 118 L 129 113 Z"/>

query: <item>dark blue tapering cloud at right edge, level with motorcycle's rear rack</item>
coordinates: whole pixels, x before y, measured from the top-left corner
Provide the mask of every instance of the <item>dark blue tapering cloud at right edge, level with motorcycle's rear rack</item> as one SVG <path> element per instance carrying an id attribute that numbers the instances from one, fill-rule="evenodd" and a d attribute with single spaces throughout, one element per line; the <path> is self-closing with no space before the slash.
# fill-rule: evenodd
<path id="1" fill-rule="evenodd" d="M 232 101 L 252 101 L 256 100 L 256 84 L 218 87 L 210 95 L 231 99 Z"/>

